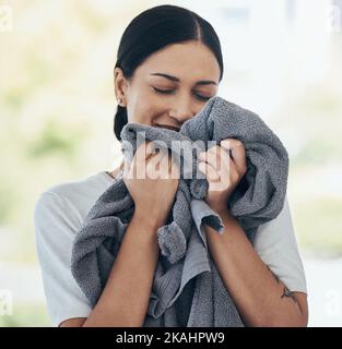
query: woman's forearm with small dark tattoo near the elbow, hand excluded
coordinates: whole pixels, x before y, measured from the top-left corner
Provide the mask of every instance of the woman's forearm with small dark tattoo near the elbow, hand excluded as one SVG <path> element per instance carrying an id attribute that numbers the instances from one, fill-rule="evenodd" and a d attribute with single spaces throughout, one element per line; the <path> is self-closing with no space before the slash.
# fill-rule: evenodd
<path id="1" fill-rule="evenodd" d="M 237 220 L 220 213 L 224 233 L 204 225 L 212 260 L 246 326 L 303 326 L 303 314 L 286 286 L 259 257 Z"/>

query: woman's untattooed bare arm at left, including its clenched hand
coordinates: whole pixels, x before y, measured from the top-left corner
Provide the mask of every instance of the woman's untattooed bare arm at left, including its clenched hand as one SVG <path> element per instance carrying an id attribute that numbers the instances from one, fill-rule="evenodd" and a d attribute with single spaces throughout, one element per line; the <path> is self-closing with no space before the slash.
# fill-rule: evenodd
<path id="1" fill-rule="evenodd" d="M 83 327 L 143 326 L 148 312 L 158 261 L 157 229 L 175 200 L 179 169 L 168 153 L 155 153 L 150 141 L 143 142 L 126 165 L 123 182 L 134 202 L 134 214 L 98 302 L 83 324 L 75 320 Z"/>

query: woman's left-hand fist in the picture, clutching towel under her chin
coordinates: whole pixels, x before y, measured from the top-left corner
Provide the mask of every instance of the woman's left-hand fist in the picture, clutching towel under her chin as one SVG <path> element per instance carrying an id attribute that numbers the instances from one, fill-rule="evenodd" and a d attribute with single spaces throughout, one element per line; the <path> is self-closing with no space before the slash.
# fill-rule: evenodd
<path id="1" fill-rule="evenodd" d="M 126 164 L 123 173 L 135 212 L 141 217 L 151 217 L 158 226 L 164 225 L 179 182 L 179 169 L 170 155 L 154 152 L 153 143 L 146 141 L 138 147 L 131 164 Z"/>

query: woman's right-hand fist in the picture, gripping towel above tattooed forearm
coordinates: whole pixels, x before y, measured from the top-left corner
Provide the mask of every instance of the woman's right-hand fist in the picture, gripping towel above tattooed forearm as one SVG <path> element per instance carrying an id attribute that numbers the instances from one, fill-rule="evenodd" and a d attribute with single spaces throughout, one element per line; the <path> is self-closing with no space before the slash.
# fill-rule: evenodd
<path id="1" fill-rule="evenodd" d="M 231 194 L 247 171 L 245 146 L 240 141 L 226 139 L 220 145 L 199 155 L 199 170 L 209 182 L 204 201 L 217 213 L 227 209 Z"/>

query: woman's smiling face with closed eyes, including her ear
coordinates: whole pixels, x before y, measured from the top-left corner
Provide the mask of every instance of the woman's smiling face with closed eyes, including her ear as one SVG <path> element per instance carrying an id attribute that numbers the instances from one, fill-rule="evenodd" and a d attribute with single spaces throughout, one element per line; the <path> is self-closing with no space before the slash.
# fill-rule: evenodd
<path id="1" fill-rule="evenodd" d="M 220 65 L 198 41 L 175 44 L 151 55 L 127 81 L 115 69 L 116 96 L 129 122 L 175 127 L 192 118 L 217 93 Z"/>

